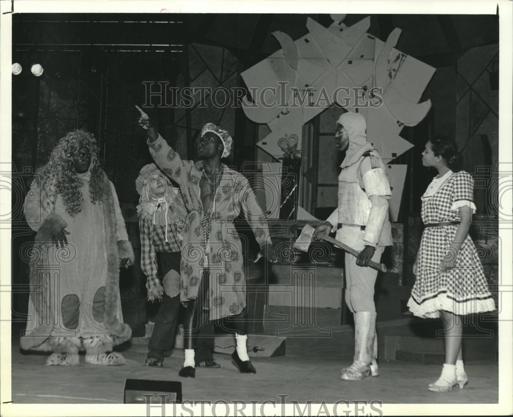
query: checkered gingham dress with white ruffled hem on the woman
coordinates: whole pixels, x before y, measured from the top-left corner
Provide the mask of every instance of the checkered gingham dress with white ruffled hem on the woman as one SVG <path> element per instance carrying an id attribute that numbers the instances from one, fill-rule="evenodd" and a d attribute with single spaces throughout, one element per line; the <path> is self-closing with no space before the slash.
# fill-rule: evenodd
<path id="1" fill-rule="evenodd" d="M 473 179 L 465 171 L 452 174 L 430 198 L 422 201 L 422 221 L 460 221 L 459 207 L 473 206 Z M 458 225 L 427 227 L 419 248 L 417 280 L 408 301 L 410 311 L 419 317 L 439 317 L 439 310 L 456 315 L 495 310 L 494 300 L 483 272 L 476 247 L 467 235 L 455 267 L 439 272 L 455 237 Z"/>

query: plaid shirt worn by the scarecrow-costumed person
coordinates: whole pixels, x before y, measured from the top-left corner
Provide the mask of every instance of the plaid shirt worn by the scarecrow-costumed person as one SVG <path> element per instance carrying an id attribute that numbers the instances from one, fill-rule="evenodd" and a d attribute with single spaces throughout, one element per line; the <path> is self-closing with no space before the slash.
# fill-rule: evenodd
<path id="1" fill-rule="evenodd" d="M 182 250 L 183 236 L 177 230 L 177 224 L 185 220 L 187 213 L 181 193 L 178 193 L 168 207 L 170 221 L 166 226 L 153 224 L 150 215 L 139 218 L 141 237 L 141 269 L 146 275 L 146 289 L 162 285 L 157 275 L 157 252 L 179 252 Z"/>

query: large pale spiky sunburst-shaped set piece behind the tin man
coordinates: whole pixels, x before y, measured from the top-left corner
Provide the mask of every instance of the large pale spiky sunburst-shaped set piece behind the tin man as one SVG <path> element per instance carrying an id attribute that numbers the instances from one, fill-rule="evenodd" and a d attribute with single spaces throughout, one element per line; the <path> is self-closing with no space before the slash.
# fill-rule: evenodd
<path id="1" fill-rule="evenodd" d="M 327 28 L 308 18 L 308 33 L 296 40 L 273 32 L 281 49 L 241 74 L 252 97 L 251 103 L 243 102 L 246 116 L 270 129 L 257 146 L 281 161 L 284 169 L 281 219 L 297 214 L 300 187 L 294 186 L 301 174 L 306 122 L 334 103 L 359 112 L 367 122 L 367 137 L 381 142 L 381 157 L 388 164 L 413 147 L 400 136 L 403 127 L 416 126 L 431 107 L 430 100 L 419 101 L 435 68 L 396 49 L 401 29 L 393 29 L 382 41 L 368 33 L 370 16 L 351 26 L 342 23 L 344 15 L 331 17 L 334 22 Z M 290 141 L 292 133 L 297 143 Z M 400 206 L 403 171 L 394 170 L 392 175 L 397 194 L 390 202 L 394 215 Z"/>

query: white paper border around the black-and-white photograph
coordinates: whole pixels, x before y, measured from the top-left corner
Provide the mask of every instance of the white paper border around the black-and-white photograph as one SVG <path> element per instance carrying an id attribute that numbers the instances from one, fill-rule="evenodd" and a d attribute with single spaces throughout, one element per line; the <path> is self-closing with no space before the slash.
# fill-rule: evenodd
<path id="1" fill-rule="evenodd" d="M 500 93 L 499 93 L 499 164 L 500 170 L 513 172 L 512 149 L 512 80 L 513 80 L 513 3 L 508 0 L 490 2 L 489 0 L 438 0 L 425 2 L 422 0 L 390 1 L 390 0 L 353 0 L 333 1 L 323 0 L 267 0 L 267 1 L 32 1 L 32 0 L 0 0 L 0 164 L 4 170 L 11 167 L 11 29 L 12 13 L 360 13 L 369 10 L 372 14 L 495 14 L 499 10 L 500 32 Z M 511 185 L 511 184 L 509 184 Z M 511 195 L 511 187 L 503 190 Z M 0 206 L 2 213 L 10 212 L 10 195 L 5 189 L 0 191 Z M 507 194 L 506 194 L 507 196 Z M 510 198 L 501 200 L 511 204 Z M 6 209 L 6 207 L 8 207 Z M 511 205 L 501 208 L 503 213 L 511 213 Z M 502 305 L 499 323 L 499 404 L 383 404 L 384 415 L 500 415 L 513 412 L 512 391 L 512 353 L 513 345 L 513 286 L 512 286 L 512 225 L 501 223 L 499 230 L 502 242 L 502 253 L 499 265 L 500 288 Z M 2 416 L 28 415 L 146 415 L 144 405 L 125 404 L 10 404 L 11 401 L 11 297 L 10 297 L 10 245 L 9 229 L 0 228 L 0 335 L 4 343 L 0 343 L 1 385 L 0 401 Z M 504 355 L 503 352 L 507 352 Z M 336 383 L 336 381 L 334 381 Z M 341 388 L 342 389 L 342 388 Z M 292 415 L 292 405 L 287 405 L 285 412 Z M 200 408 L 197 408 L 198 412 Z M 166 415 L 171 415 L 171 409 Z M 233 411 L 233 410 L 232 410 Z M 281 413 L 281 406 L 262 409 L 265 415 Z M 313 415 L 317 411 L 323 414 L 322 408 L 312 407 Z M 152 410 L 151 415 L 161 415 L 160 409 Z M 189 415 L 185 413 L 184 415 Z M 199 414 L 194 414 L 199 415 Z"/>

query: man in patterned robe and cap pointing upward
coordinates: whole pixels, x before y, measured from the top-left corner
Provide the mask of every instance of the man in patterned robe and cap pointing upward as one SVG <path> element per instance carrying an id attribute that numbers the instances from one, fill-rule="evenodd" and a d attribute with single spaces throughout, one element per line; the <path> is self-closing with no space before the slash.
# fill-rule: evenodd
<path id="1" fill-rule="evenodd" d="M 234 219 L 242 211 L 260 244 L 261 255 L 272 253 L 267 220 L 248 180 L 230 170 L 221 158 L 229 155 L 232 138 L 213 123 L 202 129 L 199 161 L 184 161 L 169 147 L 141 109 L 138 123 L 148 132 L 155 163 L 180 185 L 187 209 L 183 227 L 181 301 L 187 303 L 184 323 L 185 361 L 181 377 L 195 377 L 193 339 L 203 307 L 209 319 L 241 315 L 246 307 L 246 279 L 240 236 Z M 246 322 L 234 322 L 236 348 L 232 358 L 239 370 L 256 373 L 247 353 Z"/>

